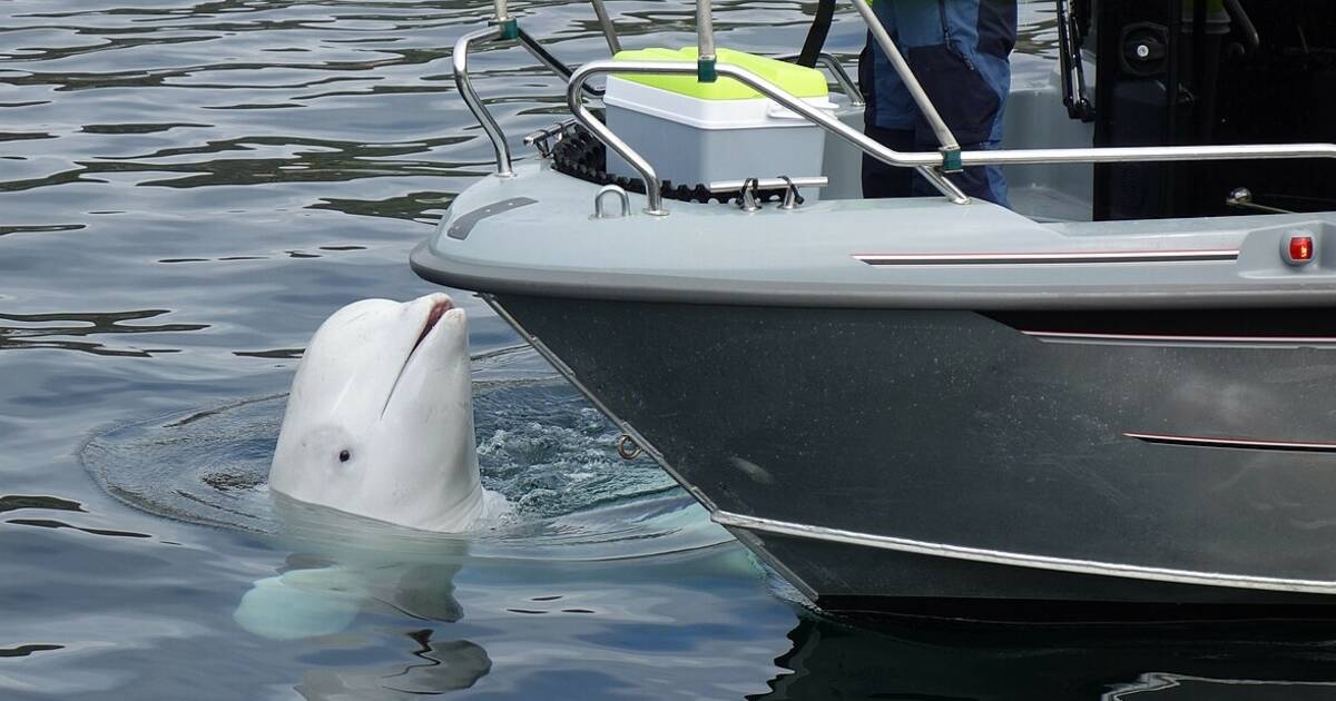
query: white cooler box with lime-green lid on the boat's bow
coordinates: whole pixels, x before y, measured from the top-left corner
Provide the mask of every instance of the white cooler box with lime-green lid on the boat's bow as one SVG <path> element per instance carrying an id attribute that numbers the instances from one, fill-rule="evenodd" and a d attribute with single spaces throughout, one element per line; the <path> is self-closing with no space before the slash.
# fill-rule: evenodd
<path id="1" fill-rule="evenodd" d="M 719 63 L 745 68 L 803 101 L 834 113 L 826 76 L 814 68 L 717 49 Z M 623 51 L 613 60 L 696 61 L 696 48 Z M 644 156 L 673 187 L 747 178 L 822 175 L 822 127 L 741 83 L 695 75 L 620 73 L 608 77 L 608 127 Z M 608 150 L 608 172 L 639 179 L 629 163 Z M 818 188 L 803 188 L 816 199 Z"/>

